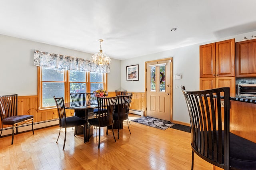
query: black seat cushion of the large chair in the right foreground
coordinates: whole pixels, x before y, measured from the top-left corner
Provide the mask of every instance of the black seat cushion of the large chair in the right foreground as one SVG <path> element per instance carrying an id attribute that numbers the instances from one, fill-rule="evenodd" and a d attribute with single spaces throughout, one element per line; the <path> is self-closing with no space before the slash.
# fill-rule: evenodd
<path id="1" fill-rule="evenodd" d="M 230 166 L 256 170 L 256 143 L 230 133 Z"/>

